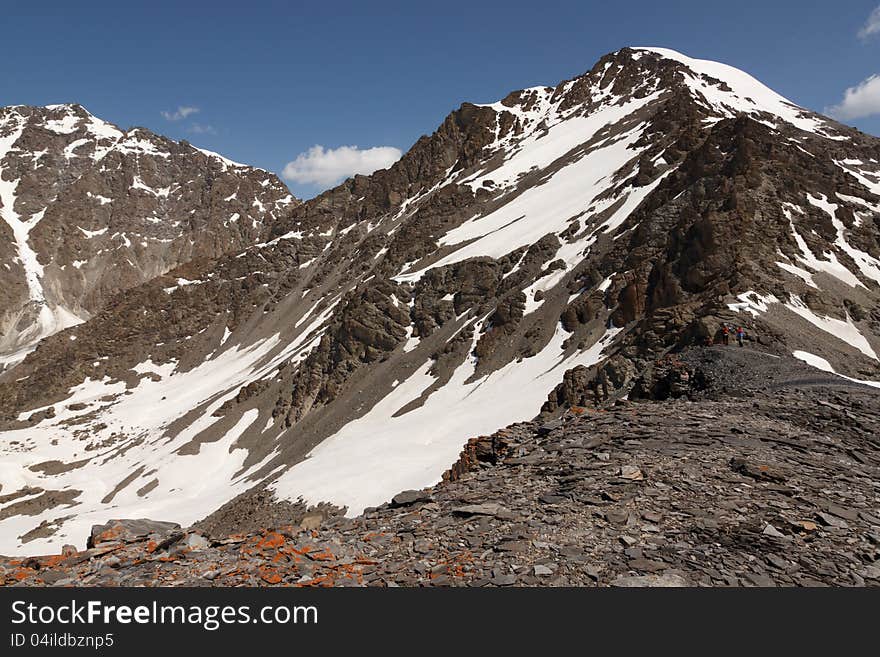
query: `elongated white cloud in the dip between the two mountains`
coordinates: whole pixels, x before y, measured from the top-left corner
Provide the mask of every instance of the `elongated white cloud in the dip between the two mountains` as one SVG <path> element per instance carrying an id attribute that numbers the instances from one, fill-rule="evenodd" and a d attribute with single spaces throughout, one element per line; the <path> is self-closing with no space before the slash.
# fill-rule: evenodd
<path id="1" fill-rule="evenodd" d="M 330 186 L 356 173 L 366 175 L 387 169 L 401 155 L 400 149 L 393 146 L 361 150 L 357 146 L 325 149 L 315 145 L 297 155 L 293 162 L 288 162 L 282 175 L 301 184 Z"/>

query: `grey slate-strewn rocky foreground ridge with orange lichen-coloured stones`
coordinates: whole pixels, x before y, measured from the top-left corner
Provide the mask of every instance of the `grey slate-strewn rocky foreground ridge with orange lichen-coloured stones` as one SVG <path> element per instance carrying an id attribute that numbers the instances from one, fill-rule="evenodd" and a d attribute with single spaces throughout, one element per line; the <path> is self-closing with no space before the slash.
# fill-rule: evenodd
<path id="1" fill-rule="evenodd" d="M 443 483 L 358 518 L 251 491 L 186 530 L 111 521 L 89 549 L 0 559 L 0 582 L 880 585 L 880 392 L 731 346 L 665 357 L 640 395 L 474 438 Z"/>

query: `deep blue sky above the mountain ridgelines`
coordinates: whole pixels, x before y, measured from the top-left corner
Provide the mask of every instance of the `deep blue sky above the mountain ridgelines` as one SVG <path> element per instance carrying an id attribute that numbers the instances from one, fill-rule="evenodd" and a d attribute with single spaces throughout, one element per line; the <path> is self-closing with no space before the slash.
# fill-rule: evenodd
<path id="1" fill-rule="evenodd" d="M 626 45 L 723 61 L 820 111 L 868 81 L 850 105 L 873 116 L 847 122 L 880 135 L 880 0 L 662 4 L 10 2 L 0 104 L 78 102 L 279 174 L 305 153 L 326 170 L 293 167 L 302 197 L 328 186 L 307 180 L 393 159 L 463 101 L 555 84 Z"/>

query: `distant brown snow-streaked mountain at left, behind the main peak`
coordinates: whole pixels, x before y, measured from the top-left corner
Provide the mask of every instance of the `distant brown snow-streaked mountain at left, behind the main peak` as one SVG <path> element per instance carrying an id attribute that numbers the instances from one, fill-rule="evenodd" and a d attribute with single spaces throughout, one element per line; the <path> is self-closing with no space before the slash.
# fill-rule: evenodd
<path id="1" fill-rule="evenodd" d="M 0 362 L 120 290 L 259 241 L 293 202 L 273 174 L 78 105 L 0 109 Z"/>

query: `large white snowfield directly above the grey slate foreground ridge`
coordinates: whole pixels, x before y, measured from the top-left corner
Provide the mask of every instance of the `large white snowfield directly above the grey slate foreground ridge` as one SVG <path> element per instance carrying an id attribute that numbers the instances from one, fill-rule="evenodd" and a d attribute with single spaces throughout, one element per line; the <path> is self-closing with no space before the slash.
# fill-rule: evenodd
<path id="1" fill-rule="evenodd" d="M 576 365 L 599 362 L 603 349 L 619 331 L 610 329 L 590 349 L 565 356 L 562 343 L 568 334 L 557 326 L 539 354 L 477 381 L 468 382 L 475 363 L 465 359 L 450 381 L 422 406 L 394 417 L 434 383 L 429 360 L 366 415 L 283 473 L 271 489 L 280 499 L 331 502 L 347 507 L 347 515 L 354 516 L 401 490 L 435 484 L 468 438 L 534 417 L 562 373 Z M 474 331 L 474 344 L 479 333 Z"/>

